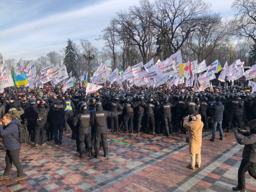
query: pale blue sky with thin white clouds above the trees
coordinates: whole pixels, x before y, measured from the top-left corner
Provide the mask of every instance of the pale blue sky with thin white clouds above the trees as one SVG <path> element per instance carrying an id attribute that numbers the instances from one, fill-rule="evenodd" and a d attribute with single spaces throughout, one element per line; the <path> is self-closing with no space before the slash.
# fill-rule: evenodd
<path id="1" fill-rule="evenodd" d="M 152 0 L 153 1 L 153 0 Z M 233 15 L 233 0 L 205 0 L 223 18 Z M 67 39 L 78 43 L 87 39 L 99 50 L 103 40 L 95 40 L 119 10 L 139 5 L 139 0 L 2 0 L 0 53 L 4 59 L 37 59 L 60 50 Z"/>

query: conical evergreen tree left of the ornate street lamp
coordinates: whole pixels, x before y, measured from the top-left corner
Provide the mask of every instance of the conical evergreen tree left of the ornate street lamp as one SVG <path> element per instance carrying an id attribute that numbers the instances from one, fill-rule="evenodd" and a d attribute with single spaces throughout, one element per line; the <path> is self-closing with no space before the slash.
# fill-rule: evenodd
<path id="1" fill-rule="evenodd" d="M 68 46 L 66 46 L 64 65 L 66 65 L 68 74 L 72 71 L 74 77 L 78 77 L 77 61 L 72 41 L 68 38 Z"/>

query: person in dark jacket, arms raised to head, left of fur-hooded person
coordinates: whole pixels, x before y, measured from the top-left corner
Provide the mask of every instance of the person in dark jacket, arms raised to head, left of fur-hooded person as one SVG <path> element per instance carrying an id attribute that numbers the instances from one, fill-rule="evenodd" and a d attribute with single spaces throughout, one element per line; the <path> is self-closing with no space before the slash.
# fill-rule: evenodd
<path id="1" fill-rule="evenodd" d="M 38 101 L 37 103 L 35 103 L 33 105 L 33 110 L 35 111 L 35 113 L 37 115 L 36 127 L 35 127 L 35 143 L 34 143 L 34 146 L 38 146 L 40 132 L 41 132 L 41 135 L 42 135 L 42 137 L 41 137 L 42 146 L 44 146 L 46 144 L 45 143 L 46 121 L 47 121 L 48 112 L 50 111 L 50 107 L 45 101 L 42 101 L 42 104 L 40 104 L 40 107 L 38 109 L 37 106 L 38 106 L 39 103 L 40 103 L 40 101 Z"/>

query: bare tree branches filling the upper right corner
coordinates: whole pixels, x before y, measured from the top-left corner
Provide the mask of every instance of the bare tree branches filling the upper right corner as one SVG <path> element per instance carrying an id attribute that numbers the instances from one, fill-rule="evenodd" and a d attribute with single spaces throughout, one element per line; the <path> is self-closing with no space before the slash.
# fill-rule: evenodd
<path id="1" fill-rule="evenodd" d="M 233 24 L 237 27 L 238 35 L 256 41 L 256 1 L 235 0 L 231 8 L 237 11 Z"/>

